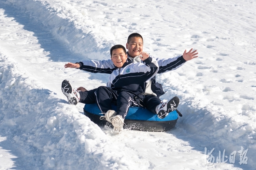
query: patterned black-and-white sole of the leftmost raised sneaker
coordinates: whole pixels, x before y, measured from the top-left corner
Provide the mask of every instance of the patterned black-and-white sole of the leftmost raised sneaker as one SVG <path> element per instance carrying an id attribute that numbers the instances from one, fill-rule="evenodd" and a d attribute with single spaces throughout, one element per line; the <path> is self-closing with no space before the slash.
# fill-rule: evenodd
<path id="1" fill-rule="evenodd" d="M 75 97 L 73 97 L 73 95 L 74 95 L 72 93 L 73 88 L 68 80 L 63 80 L 63 82 L 61 84 L 61 90 L 62 90 L 63 94 L 65 96 L 67 96 L 68 102 L 70 104 L 73 104 L 73 105 L 77 104 L 77 99 Z"/>

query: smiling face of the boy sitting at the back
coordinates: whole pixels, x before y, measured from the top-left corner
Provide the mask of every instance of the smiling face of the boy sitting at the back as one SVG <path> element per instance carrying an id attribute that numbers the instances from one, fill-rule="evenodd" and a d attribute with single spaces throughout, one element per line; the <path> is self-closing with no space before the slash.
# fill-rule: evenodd
<path id="1" fill-rule="evenodd" d="M 132 37 L 129 43 L 126 43 L 126 49 L 130 57 L 136 57 L 143 51 L 143 40 L 141 37 Z"/>

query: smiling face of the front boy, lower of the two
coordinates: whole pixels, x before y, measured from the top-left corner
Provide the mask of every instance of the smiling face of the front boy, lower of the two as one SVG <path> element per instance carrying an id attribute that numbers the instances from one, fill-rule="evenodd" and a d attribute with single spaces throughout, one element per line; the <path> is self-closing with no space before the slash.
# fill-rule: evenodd
<path id="1" fill-rule="evenodd" d="M 121 68 L 127 60 L 127 54 L 122 48 L 118 48 L 112 51 L 111 60 L 114 65 L 118 68 Z"/>

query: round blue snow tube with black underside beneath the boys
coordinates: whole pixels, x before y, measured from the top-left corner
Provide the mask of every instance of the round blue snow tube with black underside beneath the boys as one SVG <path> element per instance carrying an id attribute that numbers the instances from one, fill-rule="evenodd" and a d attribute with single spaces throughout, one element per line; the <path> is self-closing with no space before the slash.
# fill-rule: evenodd
<path id="1" fill-rule="evenodd" d="M 112 109 L 116 110 L 116 106 L 112 105 Z M 103 116 L 97 104 L 85 104 L 84 115 L 89 117 L 91 121 L 99 126 L 110 125 L 111 123 L 106 119 L 100 119 Z M 124 121 L 124 129 L 148 131 L 148 132 L 162 132 L 172 129 L 177 123 L 177 112 L 169 113 L 165 118 L 159 119 L 158 116 L 143 107 L 130 107 L 129 112 Z M 113 127 L 113 126 L 112 126 Z"/>

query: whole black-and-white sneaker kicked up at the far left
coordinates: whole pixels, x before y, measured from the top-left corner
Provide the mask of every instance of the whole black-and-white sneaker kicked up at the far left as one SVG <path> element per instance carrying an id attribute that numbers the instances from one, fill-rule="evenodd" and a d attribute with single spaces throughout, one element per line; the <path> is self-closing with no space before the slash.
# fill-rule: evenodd
<path id="1" fill-rule="evenodd" d="M 70 104 L 76 105 L 80 100 L 80 94 L 77 92 L 68 80 L 63 80 L 61 84 L 61 90 L 65 96 L 68 98 Z"/>

